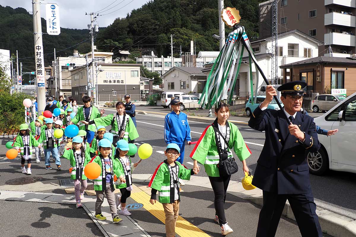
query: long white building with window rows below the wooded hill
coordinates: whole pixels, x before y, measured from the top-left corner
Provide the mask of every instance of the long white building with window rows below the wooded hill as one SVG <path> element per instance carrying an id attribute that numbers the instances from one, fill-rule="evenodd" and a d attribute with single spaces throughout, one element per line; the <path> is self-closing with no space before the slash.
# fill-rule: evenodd
<path id="1" fill-rule="evenodd" d="M 191 52 L 189 55 L 192 65 L 197 68 L 202 68 L 204 64 L 214 60 L 218 57 L 220 52 L 214 51 L 201 51 L 197 55 L 193 55 Z M 182 58 L 173 58 L 173 66 L 175 67 L 184 67 L 189 64 L 189 58 L 187 63 L 185 63 L 185 54 L 182 54 Z M 172 58 L 168 56 L 164 58 L 163 55 L 161 58 L 157 58 L 157 56 L 146 56 L 143 55 L 141 58 L 137 58 L 136 62 L 145 66 L 149 71 L 156 71 L 159 75 L 165 74 L 168 70 L 172 68 Z"/>

